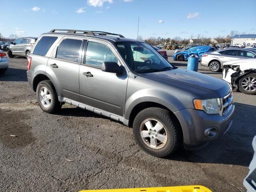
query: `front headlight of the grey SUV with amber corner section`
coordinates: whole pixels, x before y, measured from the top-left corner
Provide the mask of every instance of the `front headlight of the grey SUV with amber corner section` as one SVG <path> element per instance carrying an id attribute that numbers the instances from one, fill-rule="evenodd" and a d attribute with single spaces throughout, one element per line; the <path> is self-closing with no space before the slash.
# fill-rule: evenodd
<path id="1" fill-rule="evenodd" d="M 214 98 L 214 99 L 194 99 L 194 107 L 198 110 L 203 110 L 207 114 L 219 114 L 221 110 L 221 99 Z"/>

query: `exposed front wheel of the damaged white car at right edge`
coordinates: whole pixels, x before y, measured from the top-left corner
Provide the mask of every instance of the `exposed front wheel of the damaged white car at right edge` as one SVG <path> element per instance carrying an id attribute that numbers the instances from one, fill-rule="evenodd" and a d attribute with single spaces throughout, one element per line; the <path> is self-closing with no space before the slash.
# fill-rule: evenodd
<path id="1" fill-rule="evenodd" d="M 254 82 L 252 85 L 253 86 L 247 86 L 247 82 Z M 248 90 L 246 88 L 248 87 Z M 255 95 L 256 94 L 256 73 L 249 73 L 242 78 L 239 79 L 238 81 L 238 89 L 240 92 L 248 95 Z"/>

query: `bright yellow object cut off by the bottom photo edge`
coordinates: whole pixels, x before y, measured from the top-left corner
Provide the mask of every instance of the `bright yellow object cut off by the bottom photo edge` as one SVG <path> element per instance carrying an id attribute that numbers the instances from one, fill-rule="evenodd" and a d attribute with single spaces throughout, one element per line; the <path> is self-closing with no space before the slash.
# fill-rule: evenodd
<path id="1" fill-rule="evenodd" d="M 176 187 L 82 190 L 80 192 L 211 192 L 211 190 L 204 186 L 194 185 Z"/>

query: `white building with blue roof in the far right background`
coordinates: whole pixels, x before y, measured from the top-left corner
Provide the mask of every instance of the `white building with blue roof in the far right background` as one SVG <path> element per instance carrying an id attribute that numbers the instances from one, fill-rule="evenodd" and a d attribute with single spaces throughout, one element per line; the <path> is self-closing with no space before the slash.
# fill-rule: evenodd
<path id="1" fill-rule="evenodd" d="M 234 35 L 231 38 L 231 46 L 234 44 L 241 44 L 244 46 L 250 46 L 250 45 L 256 44 L 256 34 Z"/>

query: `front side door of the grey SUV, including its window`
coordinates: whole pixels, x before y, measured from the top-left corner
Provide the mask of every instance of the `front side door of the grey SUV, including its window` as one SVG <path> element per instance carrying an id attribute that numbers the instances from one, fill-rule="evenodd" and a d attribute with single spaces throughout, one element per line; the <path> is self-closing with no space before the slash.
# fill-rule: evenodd
<path id="1" fill-rule="evenodd" d="M 92 41 L 88 42 L 85 54 L 85 62 L 80 65 L 79 71 L 81 102 L 95 110 L 123 116 L 128 74 L 101 70 L 103 62 L 117 62 L 121 65 L 116 54 L 110 46 Z"/>

